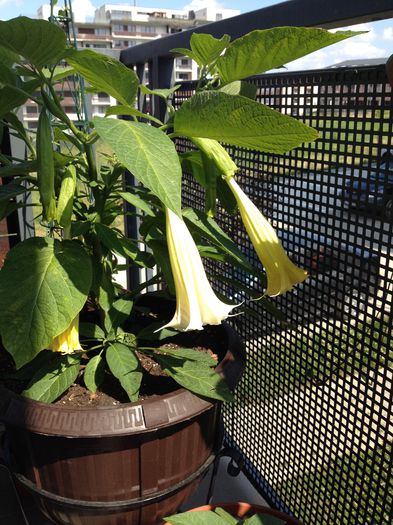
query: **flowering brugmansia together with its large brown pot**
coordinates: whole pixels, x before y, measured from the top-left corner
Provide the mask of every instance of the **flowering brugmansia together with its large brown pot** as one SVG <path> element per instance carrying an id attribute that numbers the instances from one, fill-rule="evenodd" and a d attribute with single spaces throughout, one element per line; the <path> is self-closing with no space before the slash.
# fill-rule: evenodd
<path id="1" fill-rule="evenodd" d="M 283 153 L 314 140 L 313 129 L 255 102 L 242 79 L 350 35 L 278 28 L 230 42 L 194 34 L 190 50 L 175 52 L 196 60 L 201 77 L 175 112 L 176 87 L 140 85 L 120 62 L 69 47 L 55 24 L 0 22 L 0 118 L 27 151 L 26 159 L 1 154 L 8 183 L 0 186 L 0 214 L 33 206 L 40 226 L 0 271 L 0 411 L 15 476 L 58 523 L 156 523 L 214 457 L 220 402 L 233 399 L 243 356 L 221 324 L 237 305 L 213 291 L 201 256 L 260 279 L 261 295 L 306 277 L 239 187 L 220 142 Z M 59 95 L 70 75 L 117 105 L 105 117 L 73 122 Z M 167 121 L 138 111 L 138 94 L 162 97 Z M 28 99 L 39 112 L 33 132 L 18 118 Z M 179 137 L 190 141 L 186 153 L 176 151 Z M 182 209 L 182 169 L 203 186 L 205 211 Z M 126 182 L 125 170 L 137 184 Z M 218 201 L 240 211 L 264 270 L 215 222 Z M 137 211 L 124 211 L 125 203 Z M 140 220 L 138 239 L 118 222 L 128 213 Z M 124 290 L 114 280 L 119 256 L 142 268 L 157 264 L 159 273 Z M 151 284 L 161 289 L 153 298 L 142 293 Z M 157 367 L 164 382 L 182 388 L 161 379 L 151 386 L 146 372 Z M 143 400 L 146 389 L 152 397 Z M 103 392 L 112 406 L 96 406 Z"/>

